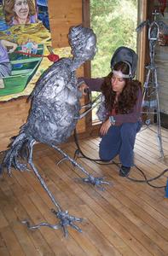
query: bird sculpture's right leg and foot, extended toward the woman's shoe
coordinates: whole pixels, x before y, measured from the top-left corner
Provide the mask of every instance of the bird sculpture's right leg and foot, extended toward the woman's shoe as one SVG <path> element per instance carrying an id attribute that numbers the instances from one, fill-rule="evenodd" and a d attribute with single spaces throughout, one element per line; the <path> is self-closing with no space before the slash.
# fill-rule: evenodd
<path id="1" fill-rule="evenodd" d="M 107 185 L 111 184 L 109 182 L 104 181 L 103 180 L 104 177 L 93 177 L 93 176 L 91 176 L 89 172 L 84 170 L 83 166 L 78 165 L 77 161 L 72 159 L 69 155 L 67 155 L 64 151 L 62 151 L 61 148 L 58 148 L 55 145 L 51 145 L 51 147 L 55 148 L 58 152 L 60 152 L 64 156 L 63 159 L 70 160 L 70 162 L 72 162 L 73 166 L 78 166 L 78 169 L 81 172 L 84 172 L 85 175 L 87 175 L 87 177 L 78 178 L 78 180 L 82 180 L 84 183 L 91 183 L 91 184 L 97 186 L 98 188 L 100 188 L 101 190 L 104 189 L 104 188 L 101 187 L 101 184 L 107 184 Z"/>

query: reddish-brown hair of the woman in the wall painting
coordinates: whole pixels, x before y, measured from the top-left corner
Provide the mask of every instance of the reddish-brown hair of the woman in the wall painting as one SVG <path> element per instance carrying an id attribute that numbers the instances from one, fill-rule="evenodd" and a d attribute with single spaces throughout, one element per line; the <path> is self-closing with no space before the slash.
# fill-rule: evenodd
<path id="1" fill-rule="evenodd" d="M 34 6 L 33 0 L 26 0 L 28 6 L 29 6 L 29 16 L 36 15 L 36 9 Z M 15 17 L 14 13 L 14 3 L 15 0 L 5 0 L 3 5 L 3 13 L 5 15 L 5 20 L 8 25 L 12 23 L 12 18 Z"/>

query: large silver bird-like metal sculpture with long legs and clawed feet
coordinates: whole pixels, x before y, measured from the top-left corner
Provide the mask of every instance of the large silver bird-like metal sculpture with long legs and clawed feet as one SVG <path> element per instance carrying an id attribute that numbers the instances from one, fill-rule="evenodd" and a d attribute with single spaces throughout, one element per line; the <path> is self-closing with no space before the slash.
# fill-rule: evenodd
<path id="1" fill-rule="evenodd" d="M 96 54 L 96 35 L 90 29 L 83 26 L 73 26 L 68 34 L 69 44 L 72 47 L 72 58 L 62 58 L 49 67 L 38 79 L 35 89 L 32 91 L 32 107 L 25 125 L 20 128 L 20 133 L 14 137 L 9 150 L 4 156 L 3 163 L 0 166 L 0 172 L 6 167 L 9 175 L 12 169 L 26 171 L 26 164 L 19 161 L 23 148 L 28 148 L 27 162 L 32 167 L 33 172 L 38 177 L 43 189 L 48 193 L 57 210 L 52 210 L 55 216 L 60 220 L 59 224 L 41 223 L 31 226 L 28 221 L 24 221 L 30 229 L 36 229 L 40 226 L 49 226 L 53 229 L 62 228 L 64 235 L 67 236 L 67 226 L 81 231 L 75 221 L 82 221 L 82 218 L 76 218 L 62 211 L 61 206 L 55 201 L 55 197 L 49 191 L 48 187 L 40 176 L 38 169 L 32 161 L 32 148 L 36 142 L 46 143 L 50 147 L 59 151 L 67 160 L 70 160 L 74 166 L 84 172 L 87 177 L 83 178 L 86 183 L 92 183 L 101 186 L 103 177 L 92 177 L 86 172 L 83 166 L 69 157 L 57 144 L 63 143 L 71 136 L 78 119 L 80 119 L 81 92 L 78 90 L 78 82 L 75 71 L 84 61 L 91 60 Z"/>

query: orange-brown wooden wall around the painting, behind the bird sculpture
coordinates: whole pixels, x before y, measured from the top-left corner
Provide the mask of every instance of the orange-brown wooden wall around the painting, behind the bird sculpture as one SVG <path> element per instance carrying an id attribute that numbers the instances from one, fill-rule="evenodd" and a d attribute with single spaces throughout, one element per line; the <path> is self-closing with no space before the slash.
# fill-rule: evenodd
<path id="1" fill-rule="evenodd" d="M 81 0 L 49 0 L 49 22 L 53 47 L 68 45 L 67 33 L 70 26 L 82 23 Z M 78 75 L 84 74 L 84 68 L 78 70 Z M 25 98 L 11 102 L 0 102 L 0 151 L 7 148 L 10 137 L 17 135 L 19 128 L 26 122 L 30 104 Z M 78 131 L 85 130 L 85 121 L 78 124 Z"/>

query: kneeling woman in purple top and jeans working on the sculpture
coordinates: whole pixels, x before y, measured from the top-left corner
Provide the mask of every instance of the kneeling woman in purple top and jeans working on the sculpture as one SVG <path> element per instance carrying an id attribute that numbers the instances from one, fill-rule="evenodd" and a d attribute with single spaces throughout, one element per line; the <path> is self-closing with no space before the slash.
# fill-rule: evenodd
<path id="1" fill-rule="evenodd" d="M 141 83 L 131 79 L 130 68 L 127 61 L 119 61 L 107 78 L 80 81 L 80 90 L 88 86 L 91 90 L 101 88 L 104 102 L 99 113 L 103 117 L 99 154 L 101 160 L 107 161 L 119 154 L 120 176 L 127 176 L 133 166 L 136 133 L 142 125 Z"/>

